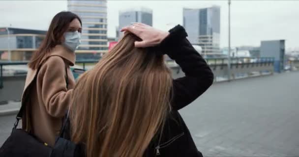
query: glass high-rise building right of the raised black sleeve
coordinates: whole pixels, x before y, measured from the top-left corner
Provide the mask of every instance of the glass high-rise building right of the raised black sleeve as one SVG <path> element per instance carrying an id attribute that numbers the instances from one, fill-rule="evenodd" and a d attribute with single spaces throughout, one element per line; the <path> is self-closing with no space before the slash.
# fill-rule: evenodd
<path id="1" fill-rule="evenodd" d="M 183 8 L 183 26 L 191 44 L 202 47 L 204 54 L 220 54 L 220 7 Z"/>

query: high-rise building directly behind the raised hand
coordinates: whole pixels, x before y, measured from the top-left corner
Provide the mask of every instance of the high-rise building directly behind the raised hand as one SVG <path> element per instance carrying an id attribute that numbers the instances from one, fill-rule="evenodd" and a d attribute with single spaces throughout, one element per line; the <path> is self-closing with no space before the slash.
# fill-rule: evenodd
<path id="1" fill-rule="evenodd" d="M 129 26 L 131 23 L 138 22 L 152 26 L 152 10 L 146 7 L 131 8 L 119 12 L 119 27 L 117 37 L 121 35 L 120 28 Z"/>

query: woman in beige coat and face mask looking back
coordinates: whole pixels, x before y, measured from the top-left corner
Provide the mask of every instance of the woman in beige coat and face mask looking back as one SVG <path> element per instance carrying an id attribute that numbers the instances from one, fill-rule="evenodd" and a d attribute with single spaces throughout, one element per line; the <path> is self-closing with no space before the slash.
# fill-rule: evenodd
<path id="1" fill-rule="evenodd" d="M 75 64 L 82 22 L 72 12 L 53 18 L 46 37 L 32 55 L 22 95 L 22 128 L 53 146 L 62 118 L 70 105 L 75 79 L 69 66 Z"/>

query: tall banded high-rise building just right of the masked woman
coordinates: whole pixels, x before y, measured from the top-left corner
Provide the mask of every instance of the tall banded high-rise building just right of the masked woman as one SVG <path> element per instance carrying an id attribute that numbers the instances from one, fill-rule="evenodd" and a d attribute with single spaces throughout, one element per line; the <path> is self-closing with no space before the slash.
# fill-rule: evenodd
<path id="1" fill-rule="evenodd" d="M 82 20 L 81 44 L 76 51 L 77 59 L 98 59 L 108 51 L 107 1 L 67 0 L 68 10 Z"/>

